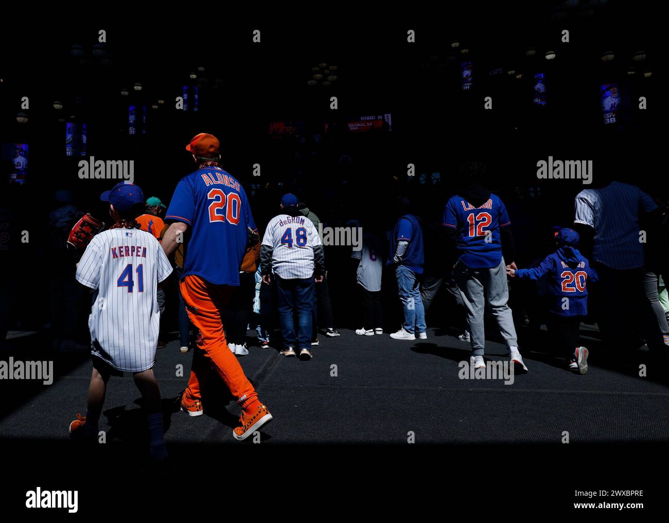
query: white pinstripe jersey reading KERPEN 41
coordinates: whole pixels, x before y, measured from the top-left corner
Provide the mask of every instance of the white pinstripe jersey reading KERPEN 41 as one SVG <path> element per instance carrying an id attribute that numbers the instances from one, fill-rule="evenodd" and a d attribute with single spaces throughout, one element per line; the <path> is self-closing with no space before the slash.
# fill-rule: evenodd
<path id="1" fill-rule="evenodd" d="M 91 352 L 114 369 L 138 373 L 156 357 L 159 282 L 172 272 L 163 247 L 140 229 L 110 229 L 93 237 L 77 266 L 80 284 L 97 290 L 88 316 Z"/>

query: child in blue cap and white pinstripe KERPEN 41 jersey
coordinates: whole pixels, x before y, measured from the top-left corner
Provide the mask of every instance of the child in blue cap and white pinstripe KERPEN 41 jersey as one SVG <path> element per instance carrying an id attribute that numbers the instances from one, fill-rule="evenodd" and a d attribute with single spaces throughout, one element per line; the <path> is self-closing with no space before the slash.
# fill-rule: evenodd
<path id="1" fill-rule="evenodd" d="M 93 237 L 77 266 L 77 281 L 96 293 L 88 317 L 93 371 L 86 416 L 78 414 L 70 423 L 70 435 L 96 439 L 109 378 L 132 373 L 147 413 L 149 455 L 163 461 L 167 448 L 153 364 L 160 324 L 157 290 L 172 266 L 159 241 L 134 221 L 144 203 L 142 189 L 122 182 L 100 199 L 110 203 L 114 225 Z"/>

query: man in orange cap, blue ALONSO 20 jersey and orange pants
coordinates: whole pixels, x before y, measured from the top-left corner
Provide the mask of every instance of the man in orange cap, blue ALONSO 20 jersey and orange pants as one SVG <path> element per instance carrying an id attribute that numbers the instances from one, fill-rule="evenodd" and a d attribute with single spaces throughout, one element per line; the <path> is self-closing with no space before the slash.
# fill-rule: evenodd
<path id="1" fill-rule="evenodd" d="M 163 249 L 170 256 L 183 241 L 183 235 L 189 233 L 179 286 L 199 336 L 181 410 L 190 416 L 203 413 L 201 389 L 213 367 L 242 406 L 240 427 L 233 430 L 233 437 L 242 440 L 271 421 L 272 415 L 260 403 L 227 346 L 221 316 L 234 288 L 240 285 L 246 245 L 252 238 L 257 243 L 260 237 L 244 189 L 218 164 L 217 138 L 198 134 L 186 149 L 193 154 L 198 168 L 177 185 L 165 213 L 165 221 L 173 223 L 163 237 Z"/>

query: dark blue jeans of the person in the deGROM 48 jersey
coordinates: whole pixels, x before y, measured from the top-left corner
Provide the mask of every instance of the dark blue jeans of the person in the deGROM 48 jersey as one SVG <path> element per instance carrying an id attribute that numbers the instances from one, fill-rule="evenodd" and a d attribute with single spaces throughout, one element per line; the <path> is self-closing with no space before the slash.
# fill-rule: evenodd
<path id="1" fill-rule="evenodd" d="M 297 348 L 311 348 L 312 311 L 314 308 L 314 278 L 284 280 L 274 275 L 279 304 L 279 321 L 284 347 L 294 347 L 295 322 L 293 311 L 297 311 Z"/>

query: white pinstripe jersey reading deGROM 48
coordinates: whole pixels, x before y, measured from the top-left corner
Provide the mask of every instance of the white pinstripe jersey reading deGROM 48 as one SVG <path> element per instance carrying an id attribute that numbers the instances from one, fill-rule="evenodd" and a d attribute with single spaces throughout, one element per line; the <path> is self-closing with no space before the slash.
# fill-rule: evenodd
<path id="1" fill-rule="evenodd" d="M 280 278 L 311 278 L 314 274 L 314 246 L 322 245 L 310 219 L 280 214 L 265 229 L 262 245 L 272 251 L 272 270 Z"/>

